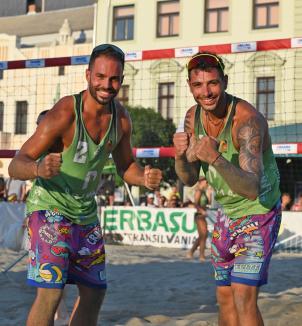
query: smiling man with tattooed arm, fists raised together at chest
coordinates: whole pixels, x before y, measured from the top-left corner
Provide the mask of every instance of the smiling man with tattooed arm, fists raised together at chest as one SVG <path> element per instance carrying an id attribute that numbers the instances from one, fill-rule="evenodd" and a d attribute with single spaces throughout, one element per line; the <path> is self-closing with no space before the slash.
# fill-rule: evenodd
<path id="1" fill-rule="evenodd" d="M 213 231 L 219 325 L 263 325 L 259 287 L 281 220 L 279 173 L 268 125 L 248 102 L 226 93 L 222 59 L 199 52 L 188 62 L 196 101 L 174 135 L 175 168 L 193 186 L 204 175 L 221 205 Z"/>

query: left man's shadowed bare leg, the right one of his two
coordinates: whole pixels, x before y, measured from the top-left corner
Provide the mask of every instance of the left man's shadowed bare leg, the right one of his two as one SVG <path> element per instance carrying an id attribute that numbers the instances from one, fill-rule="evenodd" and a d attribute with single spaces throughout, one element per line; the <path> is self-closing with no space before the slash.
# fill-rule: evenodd
<path id="1" fill-rule="evenodd" d="M 77 284 L 79 296 L 70 318 L 70 326 L 96 326 L 106 290 Z"/>

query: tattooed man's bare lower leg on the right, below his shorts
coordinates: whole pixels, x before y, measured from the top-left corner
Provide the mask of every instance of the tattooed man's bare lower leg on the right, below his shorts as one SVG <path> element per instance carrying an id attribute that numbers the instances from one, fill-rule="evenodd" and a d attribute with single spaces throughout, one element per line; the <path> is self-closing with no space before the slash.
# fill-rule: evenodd
<path id="1" fill-rule="evenodd" d="M 234 302 L 240 326 L 263 326 L 263 319 L 257 305 L 258 288 L 232 283 Z"/>

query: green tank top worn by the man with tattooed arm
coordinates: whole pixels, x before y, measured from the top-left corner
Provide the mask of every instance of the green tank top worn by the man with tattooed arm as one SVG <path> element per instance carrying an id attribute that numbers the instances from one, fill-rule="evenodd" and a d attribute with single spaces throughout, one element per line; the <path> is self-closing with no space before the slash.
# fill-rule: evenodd
<path id="1" fill-rule="evenodd" d="M 229 94 L 227 96 L 231 99 L 231 104 L 226 117 L 226 124 L 217 137 L 220 140 L 219 151 L 226 160 L 239 167 L 239 153 L 232 139 L 232 121 L 239 99 Z M 195 111 L 194 129 L 196 136 L 207 135 L 202 124 L 199 105 Z M 207 163 L 201 162 L 200 174 L 206 177 L 215 190 L 215 200 L 223 207 L 225 214 L 232 219 L 237 219 L 247 215 L 265 214 L 274 207 L 280 198 L 280 176 L 271 144 L 263 153 L 263 165 L 264 173 L 261 178 L 260 195 L 256 200 L 250 200 L 234 193 L 216 169 Z"/>

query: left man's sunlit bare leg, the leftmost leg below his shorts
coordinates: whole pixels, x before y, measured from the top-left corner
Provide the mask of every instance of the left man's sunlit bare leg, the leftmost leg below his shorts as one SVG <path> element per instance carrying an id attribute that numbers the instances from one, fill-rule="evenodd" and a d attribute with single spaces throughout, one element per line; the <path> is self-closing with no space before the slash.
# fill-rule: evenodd
<path id="1" fill-rule="evenodd" d="M 29 312 L 27 326 L 52 326 L 61 300 L 62 289 L 37 289 L 36 299 Z"/>

